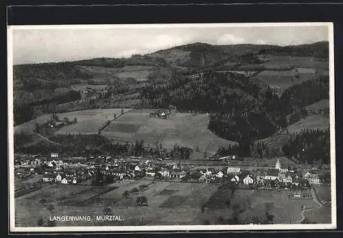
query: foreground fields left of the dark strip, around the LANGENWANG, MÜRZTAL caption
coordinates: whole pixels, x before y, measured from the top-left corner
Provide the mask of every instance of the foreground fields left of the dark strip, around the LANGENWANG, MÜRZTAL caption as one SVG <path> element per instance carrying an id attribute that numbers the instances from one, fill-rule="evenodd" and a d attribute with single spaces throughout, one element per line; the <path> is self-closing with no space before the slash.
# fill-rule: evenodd
<path id="1" fill-rule="evenodd" d="M 138 194 L 130 194 L 128 198 L 123 198 L 123 191 L 132 189 L 133 187 L 139 187 L 139 185 L 143 184 L 149 185 L 145 191 L 141 191 Z M 121 187 L 115 188 L 117 185 L 121 185 Z M 36 197 L 39 196 L 39 198 L 43 198 L 43 195 L 45 197 L 49 195 L 55 196 L 56 194 L 69 192 L 68 187 L 71 189 L 74 186 L 59 187 L 60 190 L 58 190 L 58 187 L 52 186 L 51 189 L 36 191 L 34 193 L 36 194 Z M 104 188 L 83 187 L 88 190 L 81 191 L 80 189 L 77 189 L 79 190 L 78 194 L 75 194 L 70 200 L 64 200 L 64 202 L 60 204 L 55 204 L 54 211 L 51 212 L 48 212 L 46 209 L 48 204 L 41 204 L 36 199 L 16 200 L 16 224 L 21 226 L 36 226 L 36 222 L 40 217 L 47 220 L 49 215 L 92 215 L 94 219 L 91 224 L 85 224 L 85 222 L 58 222 L 57 225 L 104 225 L 104 222 L 95 221 L 95 215 L 103 215 L 106 206 L 110 207 L 111 211 L 113 211 L 113 215 L 120 215 L 122 219 L 125 219 L 125 222 L 110 224 L 114 226 L 142 224 L 142 222 L 143 224 L 168 224 L 170 222 L 176 224 L 193 224 L 193 217 L 196 217 L 196 215 L 201 212 L 201 205 L 206 202 L 211 194 L 217 189 L 216 185 L 152 182 L 144 180 L 115 182 L 113 186 L 107 187 L 108 189 L 112 189 L 107 193 L 103 193 Z M 159 195 L 159 193 L 165 189 L 173 190 L 175 192 L 174 195 Z M 38 195 L 38 193 L 42 193 L 42 195 Z M 99 195 L 99 193 L 103 194 Z M 180 193 L 182 193 L 183 198 L 181 200 L 176 199 L 180 198 Z M 95 202 L 90 202 L 92 199 L 88 200 L 91 194 L 98 194 L 98 196 L 93 199 Z M 148 206 L 137 206 L 137 197 L 141 195 L 147 197 Z M 75 202 L 75 204 L 71 204 L 70 201 Z M 166 203 L 166 201 L 168 202 Z M 168 206 L 163 204 L 168 204 Z M 169 208 L 170 206 L 173 206 L 173 208 Z"/>

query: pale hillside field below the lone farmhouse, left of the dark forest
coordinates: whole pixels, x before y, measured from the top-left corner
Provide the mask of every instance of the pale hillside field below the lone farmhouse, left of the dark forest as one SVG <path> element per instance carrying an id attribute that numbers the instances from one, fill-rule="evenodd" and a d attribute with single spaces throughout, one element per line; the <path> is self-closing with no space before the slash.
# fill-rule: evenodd
<path id="1" fill-rule="evenodd" d="M 198 147 L 200 151 L 210 153 L 215 152 L 220 145 L 234 143 L 221 139 L 208 130 L 209 117 L 205 114 L 176 113 L 163 120 L 150 117 L 151 111 L 132 110 L 110 123 L 102 131 L 102 135 L 121 143 L 143 139 L 150 145 L 156 145 L 158 141 L 167 148 L 178 144 L 191 148 Z"/>

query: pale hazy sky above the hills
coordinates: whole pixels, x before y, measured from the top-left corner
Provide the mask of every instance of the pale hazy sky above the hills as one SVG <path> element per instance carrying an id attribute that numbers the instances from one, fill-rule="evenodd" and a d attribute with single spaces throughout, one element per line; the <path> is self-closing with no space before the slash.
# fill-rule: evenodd
<path id="1" fill-rule="evenodd" d="M 145 25 L 146 26 L 146 25 Z M 196 26 L 196 27 L 194 27 Z M 299 45 L 329 40 L 327 26 L 120 27 L 113 29 L 13 29 L 13 63 L 129 57 L 177 45 Z"/>

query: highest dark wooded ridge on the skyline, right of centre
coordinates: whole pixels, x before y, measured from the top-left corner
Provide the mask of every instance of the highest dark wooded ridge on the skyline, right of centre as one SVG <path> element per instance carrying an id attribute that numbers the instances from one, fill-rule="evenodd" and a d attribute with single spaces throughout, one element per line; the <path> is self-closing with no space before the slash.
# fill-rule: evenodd
<path id="1" fill-rule="evenodd" d="M 209 45 L 193 43 L 150 53 L 171 66 L 198 68 L 230 64 L 259 64 L 258 55 L 329 58 L 329 43 L 307 45 Z"/>

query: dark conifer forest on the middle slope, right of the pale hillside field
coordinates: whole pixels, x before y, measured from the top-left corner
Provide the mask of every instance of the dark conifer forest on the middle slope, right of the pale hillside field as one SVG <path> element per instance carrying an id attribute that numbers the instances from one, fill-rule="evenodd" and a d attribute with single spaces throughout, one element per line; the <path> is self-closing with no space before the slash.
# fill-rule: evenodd
<path id="1" fill-rule="evenodd" d="M 296 84 L 278 97 L 237 73 L 204 73 L 196 78 L 174 75 L 152 82 L 141 92 L 143 106 L 175 105 L 180 111 L 210 112 L 209 129 L 218 136 L 246 145 L 263 139 L 307 113 L 305 106 L 329 98 L 329 78 Z"/>

